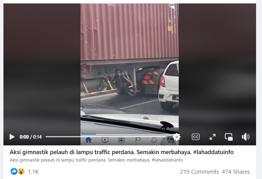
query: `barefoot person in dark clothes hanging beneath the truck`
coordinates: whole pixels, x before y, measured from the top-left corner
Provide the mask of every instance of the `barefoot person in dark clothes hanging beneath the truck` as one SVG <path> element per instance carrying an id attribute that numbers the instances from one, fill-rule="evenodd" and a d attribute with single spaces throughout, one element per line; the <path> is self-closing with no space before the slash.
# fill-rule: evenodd
<path id="1" fill-rule="evenodd" d="M 121 75 L 120 69 L 115 70 L 115 76 L 111 83 L 115 82 L 116 87 L 118 90 L 123 90 L 124 92 L 128 93 L 130 96 L 134 97 L 137 92 L 139 92 L 137 89 L 133 91 L 131 88 L 129 88 L 126 83 L 122 82 L 123 75 Z"/>

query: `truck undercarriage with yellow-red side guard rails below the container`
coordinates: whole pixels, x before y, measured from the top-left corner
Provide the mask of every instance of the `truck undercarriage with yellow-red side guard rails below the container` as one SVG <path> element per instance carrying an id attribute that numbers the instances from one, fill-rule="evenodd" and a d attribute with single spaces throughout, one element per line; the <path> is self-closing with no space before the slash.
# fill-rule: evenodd
<path id="1" fill-rule="evenodd" d="M 92 63 L 87 60 L 86 64 L 81 62 L 80 66 L 80 97 L 96 95 L 99 93 L 117 92 L 124 94 L 116 88 L 115 84 L 111 81 L 115 75 L 115 69 L 120 69 L 125 82 L 130 88 L 135 90 L 138 88 L 144 94 L 158 94 L 159 80 L 164 72 L 164 69 L 171 61 L 176 61 L 178 58 L 164 58 L 156 59 L 149 62 L 148 59 L 143 59 L 144 62 L 140 63 L 123 63 L 126 59 L 118 60 L 119 64 L 111 60 L 95 60 Z M 131 61 L 133 62 L 134 59 Z M 140 59 L 141 60 L 141 59 Z M 100 64 L 97 64 L 97 62 Z M 110 61 L 110 63 L 108 62 Z M 138 61 L 138 60 L 137 60 Z M 145 62 L 147 61 L 147 62 Z M 122 63 L 121 63 L 122 62 Z M 130 59 L 129 59 L 130 62 Z"/>

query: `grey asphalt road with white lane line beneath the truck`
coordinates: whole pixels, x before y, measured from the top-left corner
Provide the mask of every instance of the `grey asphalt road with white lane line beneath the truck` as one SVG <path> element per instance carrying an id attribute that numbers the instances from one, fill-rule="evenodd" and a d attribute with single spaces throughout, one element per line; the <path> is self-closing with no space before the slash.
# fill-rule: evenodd
<path id="1" fill-rule="evenodd" d="M 82 103 L 113 106 L 124 110 L 127 114 L 155 114 L 178 115 L 178 109 L 174 105 L 172 111 L 163 111 L 157 95 L 121 96 L 117 93 L 103 94 L 99 96 L 81 99 Z"/>

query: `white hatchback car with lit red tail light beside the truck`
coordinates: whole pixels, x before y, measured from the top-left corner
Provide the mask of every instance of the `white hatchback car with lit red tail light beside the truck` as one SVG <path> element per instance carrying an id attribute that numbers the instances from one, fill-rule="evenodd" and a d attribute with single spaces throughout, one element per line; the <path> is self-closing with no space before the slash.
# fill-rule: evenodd
<path id="1" fill-rule="evenodd" d="M 158 100 L 160 101 L 162 109 L 165 111 L 170 111 L 173 105 L 177 104 L 178 106 L 179 104 L 178 78 L 178 61 L 171 62 L 160 78 L 160 87 L 158 91 Z"/>

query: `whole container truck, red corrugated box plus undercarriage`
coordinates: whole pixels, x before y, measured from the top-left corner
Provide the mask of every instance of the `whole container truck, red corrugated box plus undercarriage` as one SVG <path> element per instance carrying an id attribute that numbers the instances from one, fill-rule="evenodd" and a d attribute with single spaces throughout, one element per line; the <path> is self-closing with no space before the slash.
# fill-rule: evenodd
<path id="1" fill-rule="evenodd" d="M 110 83 L 117 68 L 129 87 L 158 94 L 164 69 L 178 60 L 178 4 L 80 7 L 80 96 L 122 94 Z"/>

